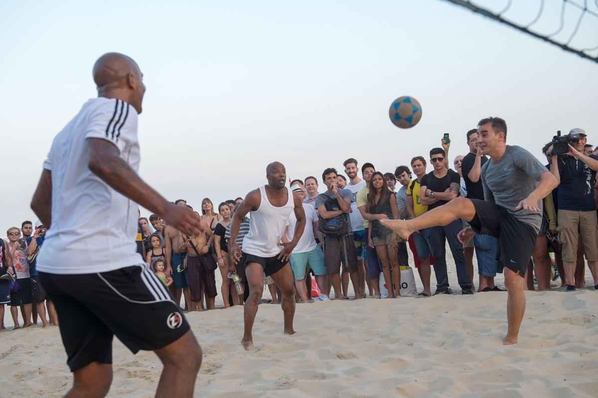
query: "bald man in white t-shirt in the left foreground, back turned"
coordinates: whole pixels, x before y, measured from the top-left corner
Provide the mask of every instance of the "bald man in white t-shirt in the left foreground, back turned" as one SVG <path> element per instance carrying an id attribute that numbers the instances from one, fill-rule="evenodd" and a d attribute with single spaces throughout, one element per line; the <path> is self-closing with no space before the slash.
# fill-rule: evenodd
<path id="1" fill-rule="evenodd" d="M 108 53 L 93 68 L 98 97 L 54 137 L 31 208 L 47 226 L 37 259 L 74 374 L 68 397 L 103 397 L 112 382 L 112 339 L 164 365 L 156 396 L 191 397 L 202 350 L 178 305 L 135 250 L 137 206 L 187 235 L 201 219 L 138 176 L 137 118 L 143 75 Z"/>

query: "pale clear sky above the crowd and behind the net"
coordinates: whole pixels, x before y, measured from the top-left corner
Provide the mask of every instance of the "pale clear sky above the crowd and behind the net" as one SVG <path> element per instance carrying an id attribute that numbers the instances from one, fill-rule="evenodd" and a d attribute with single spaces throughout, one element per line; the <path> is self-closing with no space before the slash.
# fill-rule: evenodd
<path id="1" fill-rule="evenodd" d="M 535 17 L 539 0 L 514 3 L 507 16 Z M 562 4 L 546 3 L 544 32 L 558 27 Z M 559 38 L 577 15 L 566 14 Z M 349 157 L 392 172 L 450 133 L 452 164 L 467 152 L 466 131 L 490 115 L 507 121 L 509 144 L 541 160 L 556 130 L 582 127 L 598 143 L 598 65 L 440 0 L 6 0 L 0 16 L 0 235 L 35 221 L 29 202 L 51 140 L 97 95 L 91 67 L 108 51 L 145 75 L 141 176 L 197 210 L 204 197 L 217 206 L 266 183 L 274 160 L 301 179 L 341 171 Z M 572 44 L 598 44 L 596 22 Z M 388 118 L 402 95 L 423 108 L 408 130 Z"/>

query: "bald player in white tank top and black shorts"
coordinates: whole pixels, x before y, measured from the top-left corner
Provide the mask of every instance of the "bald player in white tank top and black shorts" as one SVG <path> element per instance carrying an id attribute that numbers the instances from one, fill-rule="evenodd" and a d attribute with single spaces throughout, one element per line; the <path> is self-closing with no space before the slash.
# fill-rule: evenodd
<path id="1" fill-rule="evenodd" d="M 264 291 L 264 274 L 272 277 L 282 291 L 282 311 L 285 317 L 285 334 L 292 335 L 295 316 L 295 278 L 289 265 L 291 252 L 297 246 L 305 228 L 305 212 L 301 200 L 286 188 L 286 169 L 280 162 L 266 168 L 268 184 L 249 192 L 234 212 L 230 229 L 230 271 L 236 265 L 245 268 L 249 283 L 249 298 L 245 302 L 245 333 L 241 344 L 245 350 L 253 347 L 252 329 L 258 302 Z M 282 243 L 289 215 L 295 212 L 297 225 L 292 241 Z M 243 249 L 237 244 L 242 219 L 251 212 L 249 234 L 243 240 Z"/>

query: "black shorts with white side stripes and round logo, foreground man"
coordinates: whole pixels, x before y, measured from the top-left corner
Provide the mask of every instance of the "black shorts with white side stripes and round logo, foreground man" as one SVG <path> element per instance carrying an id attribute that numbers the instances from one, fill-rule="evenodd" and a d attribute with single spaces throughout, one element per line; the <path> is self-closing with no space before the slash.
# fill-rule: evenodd
<path id="1" fill-rule="evenodd" d="M 146 264 L 97 274 L 39 273 L 58 318 L 71 372 L 112 363 L 114 335 L 133 352 L 158 350 L 190 329 Z"/>

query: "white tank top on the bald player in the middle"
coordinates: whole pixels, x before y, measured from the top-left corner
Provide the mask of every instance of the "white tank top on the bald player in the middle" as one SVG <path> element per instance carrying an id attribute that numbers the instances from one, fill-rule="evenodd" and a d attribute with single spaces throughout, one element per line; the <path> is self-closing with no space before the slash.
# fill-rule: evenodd
<path id="1" fill-rule="evenodd" d="M 289 199 L 285 206 L 274 207 L 266 195 L 266 186 L 260 186 L 260 207 L 251 212 L 249 234 L 243 239 L 243 253 L 260 257 L 274 257 L 282 250 L 280 238 L 295 208 L 292 192 L 285 188 Z"/>

